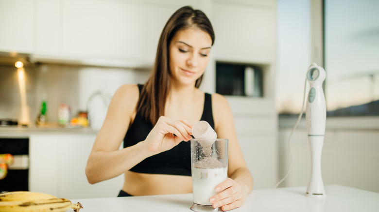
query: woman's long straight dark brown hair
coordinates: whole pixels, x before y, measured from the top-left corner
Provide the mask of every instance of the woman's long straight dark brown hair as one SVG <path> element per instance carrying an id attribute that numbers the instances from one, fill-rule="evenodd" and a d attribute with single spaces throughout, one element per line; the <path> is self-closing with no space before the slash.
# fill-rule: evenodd
<path id="1" fill-rule="evenodd" d="M 159 38 L 152 75 L 144 84 L 138 100 L 137 110 L 145 120 L 151 121 L 153 124 L 158 121 L 160 116 L 164 115 L 166 98 L 171 85 L 169 45 L 176 32 L 188 28 L 197 28 L 207 32 L 212 39 L 212 45 L 214 43 L 215 36 L 212 25 L 203 11 L 185 6 L 172 14 Z M 202 78 L 203 75 L 196 80 L 196 88 L 200 87 Z"/>

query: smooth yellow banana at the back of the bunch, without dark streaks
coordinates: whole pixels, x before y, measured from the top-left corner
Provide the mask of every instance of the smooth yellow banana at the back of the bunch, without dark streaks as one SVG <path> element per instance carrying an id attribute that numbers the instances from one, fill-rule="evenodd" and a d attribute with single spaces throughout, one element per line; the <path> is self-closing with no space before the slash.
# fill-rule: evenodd
<path id="1" fill-rule="evenodd" d="M 30 191 L 13 191 L 0 194 L 1 201 L 33 201 L 38 199 L 56 198 L 49 194 L 30 192 Z"/>

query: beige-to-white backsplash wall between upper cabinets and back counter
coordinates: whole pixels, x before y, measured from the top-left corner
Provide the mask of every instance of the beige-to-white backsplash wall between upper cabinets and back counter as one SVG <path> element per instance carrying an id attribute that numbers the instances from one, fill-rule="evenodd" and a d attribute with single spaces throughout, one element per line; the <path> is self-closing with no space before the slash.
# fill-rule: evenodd
<path id="1" fill-rule="evenodd" d="M 71 114 L 87 110 L 87 100 L 96 91 L 109 98 L 118 87 L 129 83 L 144 83 L 150 70 L 36 64 L 24 67 L 28 119 L 34 124 L 42 100 L 47 101 L 49 122 L 57 122 L 60 103 L 71 106 Z M 101 97 L 94 97 L 93 110 L 106 112 Z M 98 104 L 100 103 L 100 104 Z M 100 107 L 100 108 L 99 108 Z M 17 68 L 0 65 L 0 119 L 21 119 L 21 95 Z"/>

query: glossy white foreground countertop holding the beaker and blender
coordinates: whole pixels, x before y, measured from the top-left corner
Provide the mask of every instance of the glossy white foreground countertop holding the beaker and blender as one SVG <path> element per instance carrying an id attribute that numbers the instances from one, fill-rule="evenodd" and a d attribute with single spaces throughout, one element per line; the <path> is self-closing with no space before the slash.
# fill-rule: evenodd
<path id="1" fill-rule="evenodd" d="M 327 198 L 305 197 L 306 187 L 253 190 L 233 212 L 379 212 L 379 193 L 342 185 L 325 186 Z M 99 191 L 101 192 L 101 191 Z M 191 212 L 192 194 L 72 199 L 80 212 Z M 70 212 L 72 209 L 70 210 Z"/>

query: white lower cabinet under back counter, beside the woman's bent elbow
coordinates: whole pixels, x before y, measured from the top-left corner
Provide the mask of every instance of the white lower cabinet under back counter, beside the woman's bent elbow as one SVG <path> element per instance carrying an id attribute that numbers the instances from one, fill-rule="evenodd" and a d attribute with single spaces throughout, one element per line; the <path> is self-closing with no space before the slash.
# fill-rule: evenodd
<path id="1" fill-rule="evenodd" d="M 30 136 L 30 191 L 69 199 L 117 197 L 123 175 L 89 184 L 85 168 L 95 135 Z"/>

